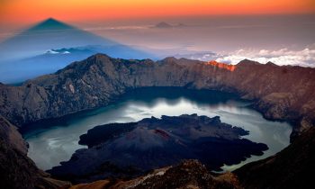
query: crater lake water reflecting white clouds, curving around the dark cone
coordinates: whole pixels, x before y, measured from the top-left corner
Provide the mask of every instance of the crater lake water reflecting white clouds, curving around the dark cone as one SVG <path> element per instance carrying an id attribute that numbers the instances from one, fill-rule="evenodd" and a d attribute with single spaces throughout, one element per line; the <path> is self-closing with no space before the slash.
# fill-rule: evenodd
<path id="1" fill-rule="evenodd" d="M 79 112 L 67 117 L 30 125 L 23 130 L 23 137 L 30 144 L 28 156 L 40 168 L 47 170 L 67 161 L 78 148 L 79 136 L 96 125 L 110 122 L 139 121 L 161 115 L 197 113 L 249 130 L 244 138 L 265 143 L 268 150 L 263 156 L 249 157 L 238 165 L 223 166 L 234 170 L 248 162 L 269 157 L 289 145 L 292 127 L 287 122 L 267 121 L 232 94 L 215 91 L 187 90 L 172 87 L 142 88 L 127 93 L 103 108 Z"/>

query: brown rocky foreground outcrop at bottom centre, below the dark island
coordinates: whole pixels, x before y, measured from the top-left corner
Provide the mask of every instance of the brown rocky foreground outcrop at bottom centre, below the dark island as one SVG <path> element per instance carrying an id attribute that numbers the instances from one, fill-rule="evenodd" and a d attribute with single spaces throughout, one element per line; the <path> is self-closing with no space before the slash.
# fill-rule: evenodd
<path id="1" fill-rule="evenodd" d="M 140 189 L 140 188 L 201 188 L 240 189 L 236 175 L 226 173 L 214 176 L 197 160 L 185 160 L 177 166 L 152 171 L 130 181 L 100 180 L 90 184 L 77 184 L 70 189 Z"/>

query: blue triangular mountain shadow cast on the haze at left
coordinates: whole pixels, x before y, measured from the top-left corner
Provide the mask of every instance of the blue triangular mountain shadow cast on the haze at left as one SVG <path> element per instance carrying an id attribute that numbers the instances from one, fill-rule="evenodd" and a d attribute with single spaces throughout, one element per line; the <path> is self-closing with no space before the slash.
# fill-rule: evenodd
<path id="1" fill-rule="evenodd" d="M 64 51 L 54 53 L 58 50 L 51 49 Z M 78 50 L 71 53 L 71 49 Z M 98 52 L 114 58 L 155 58 L 143 50 L 49 18 L 0 43 L 0 82 L 22 82 L 34 76 L 53 73 L 73 61 Z"/>

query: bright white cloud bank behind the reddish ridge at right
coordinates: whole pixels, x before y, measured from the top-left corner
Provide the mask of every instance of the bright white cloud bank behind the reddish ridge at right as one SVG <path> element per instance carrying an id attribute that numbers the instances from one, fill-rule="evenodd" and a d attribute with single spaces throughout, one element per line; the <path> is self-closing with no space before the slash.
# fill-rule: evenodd
<path id="1" fill-rule="evenodd" d="M 315 67 L 315 47 L 309 46 L 305 49 L 291 50 L 291 49 L 238 49 L 229 55 L 220 55 L 216 61 L 238 64 L 243 59 L 251 59 L 262 64 L 271 61 L 277 65 L 299 65 L 302 67 Z"/>

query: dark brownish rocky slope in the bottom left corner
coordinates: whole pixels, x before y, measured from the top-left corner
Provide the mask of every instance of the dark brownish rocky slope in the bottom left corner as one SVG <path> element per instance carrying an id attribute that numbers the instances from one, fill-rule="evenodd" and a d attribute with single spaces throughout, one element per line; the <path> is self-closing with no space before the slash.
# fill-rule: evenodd
<path id="1" fill-rule="evenodd" d="M 49 177 L 26 155 L 26 142 L 9 121 L 0 116 L 1 188 L 60 188 L 70 184 Z"/>

